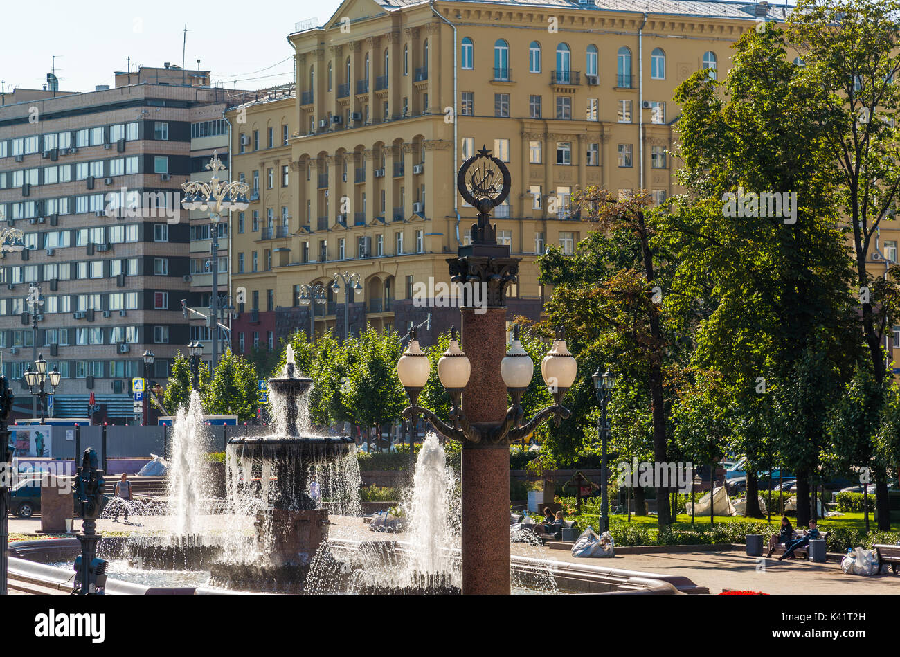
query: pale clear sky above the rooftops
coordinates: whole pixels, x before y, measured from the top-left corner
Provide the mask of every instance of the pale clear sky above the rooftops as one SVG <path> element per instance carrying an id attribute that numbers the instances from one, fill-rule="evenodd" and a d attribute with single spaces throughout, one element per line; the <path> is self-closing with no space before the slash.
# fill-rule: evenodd
<path id="1" fill-rule="evenodd" d="M 4 88 L 40 89 L 56 56 L 62 91 L 114 85 L 113 71 L 127 58 L 138 65 L 211 70 L 214 85 L 257 89 L 293 82 L 293 50 L 286 37 L 294 23 L 320 25 L 338 0 L 3 0 L 0 79 Z"/>

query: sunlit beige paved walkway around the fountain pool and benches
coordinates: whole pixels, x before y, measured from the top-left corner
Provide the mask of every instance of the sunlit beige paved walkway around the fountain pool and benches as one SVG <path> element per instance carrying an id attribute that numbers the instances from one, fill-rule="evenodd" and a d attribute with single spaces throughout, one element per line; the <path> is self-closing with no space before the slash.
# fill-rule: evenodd
<path id="1" fill-rule="evenodd" d="M 221 523 L 221 516 L 209 517 Z M 132 526 L 100 520 L 100 532 L 134 531 L 143 533 L 166 524 L 165 517 L 130 518 Z M 331 517 L 332 536 L 365 541 L 403 541 L 405 534 L 373 532 L 361 518 Z M 80 527 L 80 522 L 76 523 Z M 247 526 L 248 531 L 251 526 Z M 40 529 L 40 518 L 10 518 L 10 533 L 34 533 Z M 513 544 L 512 553 L 533 558 L 572 563 L 590 563 L 627 571 L 656 572 L 681 575 L 710 592 L 723 589 L 759 590 L 771 594 L 900 594 L 900 576 L 887 574 L 875 577 L 844 575 L 837 563 L 810 563 L 803 560 L 779 562 L 777 559 L 758 560 L 743 552 L 690 552 L 678 554 L 626 554 L 611 559 L 583 559 L 573 557 L 567 550 L 551 550 L 545 546 Z"/>

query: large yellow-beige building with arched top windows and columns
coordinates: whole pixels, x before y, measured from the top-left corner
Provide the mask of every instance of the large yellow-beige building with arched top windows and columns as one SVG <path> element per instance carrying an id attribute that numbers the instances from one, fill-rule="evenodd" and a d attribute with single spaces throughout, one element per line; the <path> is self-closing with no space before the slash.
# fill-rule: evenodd
<path id="1" fill-rule="evenodd" d="M 351 332 L 402 334 L 431 313 L 420 335 L 433 341 L 455 308 L 412 297 L 416 284 L 431 296 L 448 282 L 446 258 L 469 239 L 476 212 L 455 176 L 482 145 L 512 175 L 493 215 L 521 258 L 509 317 L 539 317 L 548 291 L 536 258 L 552 244 L 571 253 L 590 229 L 570 195 L 589 184 L 644 188 L 655 202 L 679 193 L 674 89 L 701 69 L 724 76 L 744 31 L 785 17 L 767 3 L 347 0 L 290 34 L 296 95 L 229 111 L 232 123 L 247 112 L 231 150 L 255 190 L 233 233 L 233 285 L 247 291 L 233 348 L 309 330 L 303 284 L 326 290 L 316 332 L 342 335 L 338 272 L 361 281 Z M 288 136 L 273 142 L 271 130 Z"/>

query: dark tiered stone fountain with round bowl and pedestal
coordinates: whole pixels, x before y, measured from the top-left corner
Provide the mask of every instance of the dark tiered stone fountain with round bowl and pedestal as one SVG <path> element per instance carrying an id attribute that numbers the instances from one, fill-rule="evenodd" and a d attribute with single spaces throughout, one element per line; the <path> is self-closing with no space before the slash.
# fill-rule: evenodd
<path id="1" fill-rule="evenodd" d="M 349 436 L 301 434 L 298 399 L 310 392 L 312 379 L 297 371 L 290 345 L 284 376 L 268 384 L 279 420 L 275 435 L 233 437 L 227 446 L 229 499 L 258 501 L 255 554 L 213 564 L 211 577 L 230 588 L 301 590 L 313 555 L 329 535 L 329 511 L 311 495 L 311 467 L 337 462 L 355 442 Z"/>

